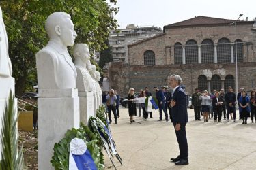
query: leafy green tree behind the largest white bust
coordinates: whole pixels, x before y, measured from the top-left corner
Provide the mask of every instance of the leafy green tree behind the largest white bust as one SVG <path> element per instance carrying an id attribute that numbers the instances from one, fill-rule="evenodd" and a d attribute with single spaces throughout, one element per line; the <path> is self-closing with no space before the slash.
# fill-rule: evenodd
<path id="1" fill-rule="evenodd" d="M 115 5 L 117 0 L 110 2 Z M 44 23 L 51 13 L 70 14 L 78 34 L 76 43 L 88 44 L 91 51 L 106 48 L 109 29 L 117 29 L 113 14 L 118 8 L 110 7 L 106 0 L 1 0 L 0 6 L 17 95 L 37 84 L 35 54 L 48 42 Z"/>

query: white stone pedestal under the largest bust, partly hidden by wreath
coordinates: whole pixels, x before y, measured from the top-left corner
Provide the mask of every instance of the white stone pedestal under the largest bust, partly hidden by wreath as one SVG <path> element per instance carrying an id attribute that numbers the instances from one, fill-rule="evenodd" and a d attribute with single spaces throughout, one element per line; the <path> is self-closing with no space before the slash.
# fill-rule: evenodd
<path id="1" fill-rule="evenodd" d="M 54 144 L 68 129 L 79 128 L 77 89 L 39 89 L 38 99 L 38 169 L 53 169 L 50 160 Z"/>

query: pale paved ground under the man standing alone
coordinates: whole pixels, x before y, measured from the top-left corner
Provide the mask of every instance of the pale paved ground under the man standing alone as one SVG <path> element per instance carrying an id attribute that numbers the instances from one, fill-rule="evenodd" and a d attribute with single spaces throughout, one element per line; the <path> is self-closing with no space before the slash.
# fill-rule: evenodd
<path id="1" fill-rule="evenodd" d="M 242 124 L 242 120 L 195 121 L 193 109 L 188 109 L 189 165 L 177 166 L 169 161 L 179 153 L 171 122 L 157 122 L 158 111 L 154 111 L 153 119 L 144 121 L 136 116 L 141 124 L 129 124 L 128 109 L 119 110 L 118 124 L 111 124 L 124 164 L 121 166 L 115 158 L 117 169 L 256 169 L 256 124 L 251 118 L 248 124 Z M 105 163 L 106 169 L 113 169 L 108 158 Z"/>

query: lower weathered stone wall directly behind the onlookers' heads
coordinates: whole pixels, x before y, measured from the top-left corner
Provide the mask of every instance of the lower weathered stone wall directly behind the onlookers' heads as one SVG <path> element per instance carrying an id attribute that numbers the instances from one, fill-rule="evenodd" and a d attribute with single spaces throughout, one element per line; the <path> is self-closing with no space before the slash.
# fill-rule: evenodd
<path id="1" fill-rule="evenodd" d="M 118 90 L 119 94 L 127 96 L 130 87 L 139 92 L 141 88 L 148 86 L 153 91 L 154 86 L 168 86 L 168 77 L 178 74 L 182 77 L 182 84 L 186 86 L 186 92 L 191 94 L 198 86 L 199 75 L 205 75 L 208 81 L 212 75 L 219 75 L 225 80 L 227 75 L 236 78 L 235 64 L 196 64 L 196 65 L 154 65 L 154 66 L 128 66 L 122 62 L 111 63 L 109 67 L 110 86 Z M 238 63 L 238 87 L 246 90 L 256 88 L 256 63 Z M 235 88 L 235 87 L 233 87 Z M 220 90 L 220 89 L 218 89 Z"/>

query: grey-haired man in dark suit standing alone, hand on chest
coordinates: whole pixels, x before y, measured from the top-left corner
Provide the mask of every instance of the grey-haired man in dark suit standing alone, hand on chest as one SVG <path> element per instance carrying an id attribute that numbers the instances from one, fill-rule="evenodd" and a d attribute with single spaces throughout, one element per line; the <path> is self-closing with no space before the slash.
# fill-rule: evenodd
<path id="1" fill-rule="evenodd" d="M 175 165 L 188 165 L 188 142 L 186 140 L 188 112 L 186 108 L 186 93 L 180 88 L 181 82 L 180 75 L 171 75 L 170 86 L 173 88 L 171 111 L 177 143 L 179 143 L 180 148 L 180 155 L 177 158 L 171 158 L 171 160 L 175 162 Z"/>

